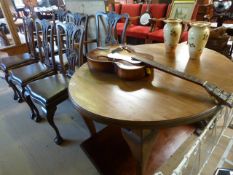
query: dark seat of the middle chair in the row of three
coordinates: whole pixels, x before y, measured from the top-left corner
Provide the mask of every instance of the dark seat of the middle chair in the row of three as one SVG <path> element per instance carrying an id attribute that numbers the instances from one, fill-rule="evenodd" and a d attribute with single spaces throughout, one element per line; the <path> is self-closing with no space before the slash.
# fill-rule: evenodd
<path id="1" fill-rule="evenodd" d="M 52 69 L 48 68 L 43 63 L 38 62 L 17 69 L 12 69 L 10 75 L 11 80 L 23 85 L 35 79 L 52 75 L 53 72 L 54 71 Z"/>

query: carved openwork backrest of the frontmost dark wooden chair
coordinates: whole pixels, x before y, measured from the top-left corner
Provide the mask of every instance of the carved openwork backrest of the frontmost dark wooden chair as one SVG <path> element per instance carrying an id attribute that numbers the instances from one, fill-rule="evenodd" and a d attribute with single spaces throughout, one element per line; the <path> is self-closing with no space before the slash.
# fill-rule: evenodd
<path id="1" fill-rule="evenodd" d="M 60 22 L 56 24 L 56 32 L 62 73 L 71 76 L 75 67 L 83 64 L 84 27 L 70 22 L 65 24 Z M 63 62 L 64 50 L 68 60 L 68 70 L 66 70 Z"/>

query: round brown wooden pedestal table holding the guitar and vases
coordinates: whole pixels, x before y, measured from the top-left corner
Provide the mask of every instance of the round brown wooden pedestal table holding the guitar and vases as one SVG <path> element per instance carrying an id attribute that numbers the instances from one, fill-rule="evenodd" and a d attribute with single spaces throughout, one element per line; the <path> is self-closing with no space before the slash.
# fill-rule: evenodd
<path id="1" fill-rule="evenodd" d="M 138 45 L 134 49 L 153 55 L 154 60 L 161 64 L 212 82 L 228 92 L 233 91 L 232 62 L 212 50 L 204 49 L 200 59 L 191 60 L 188 45 L 185 43 L 179 44 L 176 52 L 170 55 L 166 54 L 164 44 Z M 94 50 L 88 56 L 94 57 L 96 54 Z M 111 135 L 112 131 L 105 129 L 83 143 L 85 151 L 92 156 L 98 155 L 97 148 L 104 147 L 105 152 L 101 153 L 101 158 L 92 157 L 92 160 L 97 164 L 98 160 L 102 159 L 105 166 L 95 165 L 102 173 L 108 172 L 106 169 L 109 170 L 109 167 L 113 168 L 111 174 L 117 170 L 118 173 L 115 174 L 127 174 L 124 170 L 130 172 L 129 174 L 153 174 L 158 167 L 158 159 L 154 159 L 157 154 L 163 155 L 161 150 L 163 145 L 166 145 L 156 139 L 161 132 L 166 132 L 166 128 L 169 128 L 170 132 L 165 135 L 174 135 L 177 127 L 211 117 L 219 110 L 219 106 L 202 87 L 158 70 L 154 70 L 152 80 L 145 78 L 124 81 L 114 74 L 91 72 L 85 64 L 73 75 L 69 84 L 69 95 L 74 106 L 83 115 L 109 125 L 110 129 L 112 126 L 121 128 L 118 132 L 121 131 L 122 135 Z M 192 128 L 189 129 L 186 128 L 184 133 L 190 133 Z M 184 128 L 181 131 L 184 131 Z M 185 134 L 185 137 L 187 135 Z M 130 161 L 130 156 L 127 159 L 118 159 L 117 155 L 121 152 L 115 154 L 114 159 L 105 159 L 108 146 L 104 144 L 111 140 L 111 136 L 114 139 L 124 138 L 124 142 L 121 140 L 119 144 L 123 143 L 128 151 L 131 150 L 132 154 L 127 154 L 133 156 L 135 161 Z M 179 140 L 173 138 L 174 142 Z M 156 148 L 158 143 L 159 149 Z M 120 145 L 112 147 L 112 152 L 122 148 Z M 169 147 L 166 148 L 163 151 L 170 152 Z M 122 154 L 126 155 L 125 152 Z M 165 160 L 159 161 L 161 165 Z"/>

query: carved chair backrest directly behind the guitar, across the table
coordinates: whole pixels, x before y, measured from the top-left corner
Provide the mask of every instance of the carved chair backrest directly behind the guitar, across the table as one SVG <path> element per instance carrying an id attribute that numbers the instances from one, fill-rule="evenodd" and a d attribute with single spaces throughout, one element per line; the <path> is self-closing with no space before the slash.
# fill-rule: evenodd
<path id="1" fill-rule="evenodd" d="M 125 43 L 125 32 L 127 25 L 129 23 L 129 15 L 128 14 L 117 14 L 115 12 L 97 12 L 96 13 L 96 39 L 97 39 L 97 46 L 101 45 L 101 36 L 100 34 L 103 33 L 103 30 L 100 28 L 100 21 L 104 21 L 105 19 L 105 25 L 106 25 L 106 38 L 105 38 L 105 44 L 113 45 L 113 44 L 118 44 L 118 36 L 117 36 L 117 23 L 121 20 L 124 19 L 124 27 L 123 27 L 123 32 L 121 34 L 121 39 L 120 43 L 124 44 Z"/>

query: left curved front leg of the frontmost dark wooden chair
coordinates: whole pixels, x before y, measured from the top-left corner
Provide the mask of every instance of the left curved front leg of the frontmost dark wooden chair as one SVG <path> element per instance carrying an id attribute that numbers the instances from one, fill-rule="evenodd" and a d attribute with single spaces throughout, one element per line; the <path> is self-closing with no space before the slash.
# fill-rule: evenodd
<path id="1" fill-rule="evenodd" d="M 23 88 L 22 95 L 24 97 L 25 102 L 27 103 L 27 105 L 29 106 L 29 108 L 31 110 L 31 116 L 30 116 L 30 118 L 32 120 L 35 120 L 36 122 L 41 121 L 40 113 L 39 113 L 37 107 L 35 106 L 35 104 L 33 103 L 30 95 L 27 95 L 25 93 L 25 88 Z"/>

